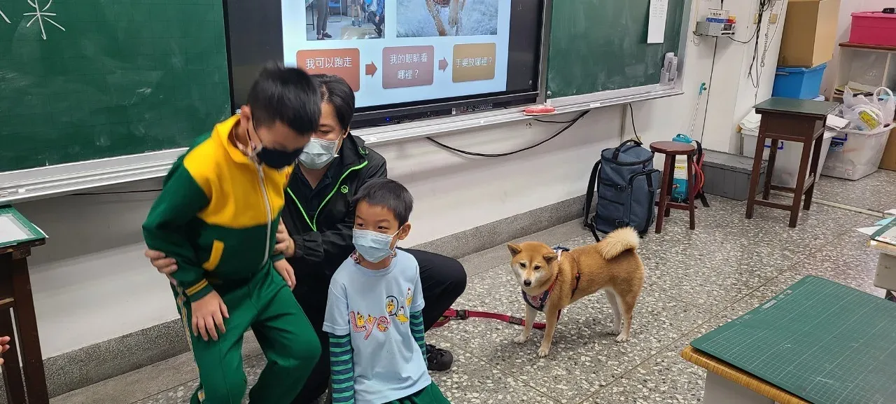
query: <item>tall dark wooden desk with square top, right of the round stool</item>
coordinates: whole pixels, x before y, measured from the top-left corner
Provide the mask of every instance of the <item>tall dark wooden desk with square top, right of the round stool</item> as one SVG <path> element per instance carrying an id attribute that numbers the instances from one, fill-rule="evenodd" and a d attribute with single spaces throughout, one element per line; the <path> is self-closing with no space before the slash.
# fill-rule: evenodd
<path id="1" fill-rule="evenodd" d="M 756 140 L 756 151 L 753 160 L 753 176 L 750 179 L 750 191 L 746 199 L 746 219 L 753 219 L 755 205 L 780 209 L 790 212 L 791 228 L 797 227 L 799 219 L 799 202 L 806 195 L 803 209 L 812 207 L 812 194 L 815 190 L 815 173 L 818 172 L 818 159 L 822 155 L 824 125 L 834 108 L 839 104 L 830 101 L 813 101 L 807 99 L 785 99 L 772 97 L 755 106 L 756 113 L 762 115 L 759 125 L 759 138 Z M 762 168 L 762 150 L 765 140 L 771 139 L 769 165 L 765 172 L 765 184 L 762 186 L 762 200 L 756 200 L 759 187 L 759 176 Z M 797 170 L 797 186 L 771 185 L 771 177 L 778 154 L 778 142 L 789 141 L 803 144 L 803 153 Z M 812 156 L 810 161 L 809 156 Z M 808 176 L 808 178 L 806 178 Z M 771 190 L 793 193 L 793 202 L 783 204 L 769 201 Z"/>

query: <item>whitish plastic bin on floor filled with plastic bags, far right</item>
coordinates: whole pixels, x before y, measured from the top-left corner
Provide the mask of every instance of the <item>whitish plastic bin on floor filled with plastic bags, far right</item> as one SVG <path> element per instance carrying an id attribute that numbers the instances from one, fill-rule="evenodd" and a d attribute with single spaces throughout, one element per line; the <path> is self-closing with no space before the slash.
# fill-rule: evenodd
<path id="1" fill-rule="evenodd" d="M 842 130 L 831 139 L 822 174 L 857 180 L 877 171 L 893 125 L 874 131 Z"/>

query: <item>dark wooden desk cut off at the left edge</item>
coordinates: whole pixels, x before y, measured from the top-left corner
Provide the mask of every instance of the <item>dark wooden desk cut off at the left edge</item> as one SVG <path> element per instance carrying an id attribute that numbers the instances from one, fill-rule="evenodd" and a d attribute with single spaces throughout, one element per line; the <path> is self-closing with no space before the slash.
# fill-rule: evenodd
<path id="1" fill-rule="evenodd" d="M 13 208 L 0 207 L 4 224 L 10 218 L 18 219 L 16 224 L 29 236 L 0 246 L 0 336 L 18 335 L 17 340 L 10 341 L 10 349 L 4 354 L 6 399 L 9 404 L 49 404 L 28 273 L 31 248 L 46 244 L 46 235 Z"/>

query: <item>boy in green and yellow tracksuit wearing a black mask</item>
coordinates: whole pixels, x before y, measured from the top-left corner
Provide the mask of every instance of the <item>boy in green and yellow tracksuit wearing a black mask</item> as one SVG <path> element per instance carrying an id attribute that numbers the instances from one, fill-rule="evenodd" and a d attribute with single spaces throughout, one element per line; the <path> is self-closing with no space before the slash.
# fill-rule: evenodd
<path id="1" fill-rule="evenodd" d="M 172 290 L 199 368 L 194 404 L 243 400 L 250 326 L 268 359 L 253 403 L 289 403 L 320 356 L 290 292 L 292 268 L 273 254 L 283 190 L 320 114 L 306 73 L 266 67 L 240 114 L 177 159 L 143 223 L 146 245 L 177 260 Z"/>

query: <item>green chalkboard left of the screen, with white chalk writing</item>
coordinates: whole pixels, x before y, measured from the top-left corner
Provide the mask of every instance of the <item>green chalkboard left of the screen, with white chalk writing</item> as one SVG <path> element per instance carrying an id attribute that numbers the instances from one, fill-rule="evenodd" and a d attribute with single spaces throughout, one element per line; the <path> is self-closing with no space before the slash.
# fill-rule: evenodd
<path id="1" fill-rule="evenodd" d="M 184 147 L 230 111 L 220 0 L 0 0 L 0 172 Z"/>

